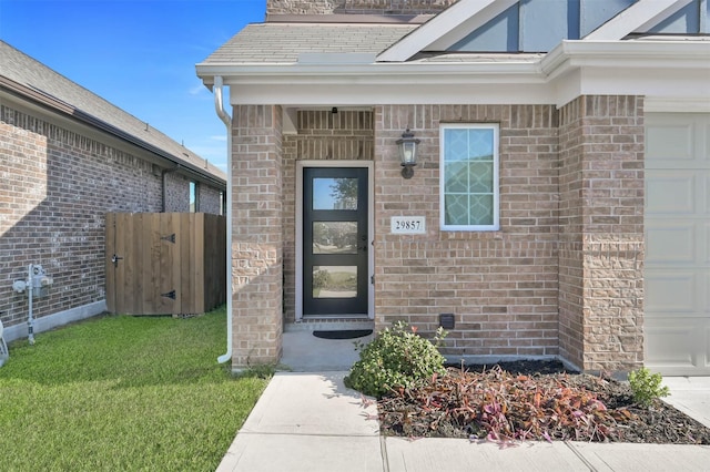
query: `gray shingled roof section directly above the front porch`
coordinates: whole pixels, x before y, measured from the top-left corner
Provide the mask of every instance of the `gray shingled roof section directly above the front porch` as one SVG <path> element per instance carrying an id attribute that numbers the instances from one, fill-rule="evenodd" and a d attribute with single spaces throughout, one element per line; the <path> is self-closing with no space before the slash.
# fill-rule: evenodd
<path id="1" fill-rule="evenodd" d="M 202 63 L 293 63 L 302 52 L 379 53 L 419 24 L 248 24 Z"/>

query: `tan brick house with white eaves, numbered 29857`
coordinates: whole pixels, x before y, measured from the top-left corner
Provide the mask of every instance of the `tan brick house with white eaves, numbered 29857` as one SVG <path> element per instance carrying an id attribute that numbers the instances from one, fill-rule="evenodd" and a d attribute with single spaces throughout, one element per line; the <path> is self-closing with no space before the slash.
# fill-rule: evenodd
<path id="1" fill-rule="evenodd" d="M 701 127 L 710 112 L 710 43 L 630 34 L 643 25 L 662 35 L 681 13 L 707 12 L 617 2 L 609 18 L 579 27 L 589 28 L 582 39 L 555 39 L 540 53 L 526 49 L 550 40 L 534 28 L 535 0 L 506 2 L 513 7 L 505 11 L 483 3 L 270 1 L 265 23 L 197 64 L 207 86 L 215 78 L 231 86 L 233 368 L 277 362 L 285 329 L 367 321 L 378 330 L 404 319 L 430 336 L 439 315 L 453 314 L 442 348 L 452 360 L 558 358 L 588 371 L 646 363 L 710 373 L 710 359 L 663 357 L 658 346 L 671 331 L 645 304 L 647 249 L 657 234 L 645 223 L 653 216 L 647 192 L 659 192 L 648 187 L 646 115 L 692 111 Z M 498 44 L 485 37 L 494 30 L 487 25 L 513 14 L 538 38 L 506 30 L 503 42 L 519 40 L 519 49 L 475 49 Z M 476 35 L 476 28 L 485 31 Z M 450 125 L 496 126 L 494 230 L 439 224 L 443 129 Z M 405 130 L 419 140 L 410 179 L 397 156 Z M 303 173 L 338 161 L 372 174 L 372 308 L 362 319 L 304 308 L 311 219 L 301 203 L 308 198 Z M 393 222 L 403 216 L 423 217 L 426 230 L 396 233 Z M 698 267 L 710 280 L 707 266 Z M 710 327 L 702 302 L 688 318 Z"/>

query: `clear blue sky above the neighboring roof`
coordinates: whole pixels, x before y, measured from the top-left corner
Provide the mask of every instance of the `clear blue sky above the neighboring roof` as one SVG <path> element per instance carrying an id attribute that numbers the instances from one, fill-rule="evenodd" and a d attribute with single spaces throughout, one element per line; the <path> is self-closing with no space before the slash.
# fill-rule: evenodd
<path id="1" fill-rule="evenodd" d="M 226 131 L 195 64 L 266 0 L 0 0 L 0 38 L 226 167 Z"/>

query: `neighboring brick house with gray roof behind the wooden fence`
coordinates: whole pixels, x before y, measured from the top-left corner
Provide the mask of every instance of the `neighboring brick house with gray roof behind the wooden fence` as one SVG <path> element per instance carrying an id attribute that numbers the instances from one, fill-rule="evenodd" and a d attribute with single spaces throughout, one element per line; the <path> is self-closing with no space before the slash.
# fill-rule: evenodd
<path id="1" fill-rule="evenodd" d="M 108 212 L 220 214 L 224 174 L 158 130 L 0 42 L 0 319 L 27 336 L 29 264 L 53 278 L 36 332 L 105 309 Z M 143 133 L 140 134 L 140 131 Z M 183 154 L 184 153 L 184 154 Z M 181 167 L 181 168 L 178 168 Z"/>

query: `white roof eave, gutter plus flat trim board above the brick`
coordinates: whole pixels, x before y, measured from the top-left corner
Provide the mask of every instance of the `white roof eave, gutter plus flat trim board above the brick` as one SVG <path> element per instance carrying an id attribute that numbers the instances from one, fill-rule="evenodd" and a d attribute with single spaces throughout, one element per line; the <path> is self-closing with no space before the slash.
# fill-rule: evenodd
<path id="1" fill-rule="evenodd" d="M 222 76 L 232 104 L 561 106 L 584 94 L 710 95 L 710 41 L 565 41 L 544 57 L 480 62 L 203 63 L 197 74 L 207 85 Z"/>

